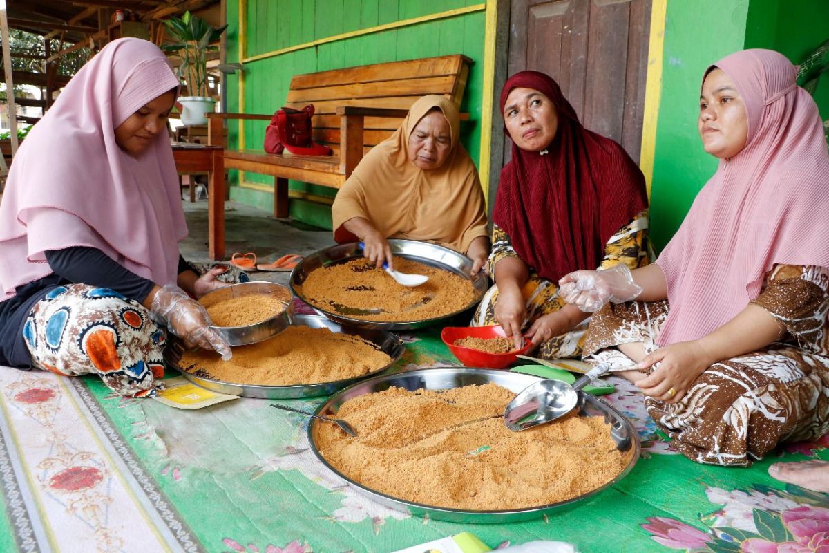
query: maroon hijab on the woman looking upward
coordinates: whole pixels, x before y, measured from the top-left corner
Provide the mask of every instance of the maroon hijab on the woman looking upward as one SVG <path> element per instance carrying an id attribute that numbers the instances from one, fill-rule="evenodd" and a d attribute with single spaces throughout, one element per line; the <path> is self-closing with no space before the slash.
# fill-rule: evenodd
<path id="1" fill-rule="evenodd" d="M 558 282 L 571 271 L 599 266 L 610 237 L 647 206 L 645 178 L 618 143 L 581 126 L 555 80 L 538 71 L 512 75 L 501 93 L 502 112 L 516 88 L 547 96 L 558 130 L 545 155 L 512 144 L 492 221 L 510 236 L 521 260 Z"/>

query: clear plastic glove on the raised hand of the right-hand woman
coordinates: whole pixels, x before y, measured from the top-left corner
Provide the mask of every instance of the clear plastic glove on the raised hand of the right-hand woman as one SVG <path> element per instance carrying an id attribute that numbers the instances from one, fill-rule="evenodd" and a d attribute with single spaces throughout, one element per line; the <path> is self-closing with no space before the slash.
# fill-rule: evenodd
<path id="1" fill-rule="evenodd" d="M 633 274 L 623 263 L 598 271 L 574 271 L 559 280 L 560 297 L 585 313 L 599 311 L 608 302 L 629 302 L 640 293 L 642 287 L 633 282 Z"/>

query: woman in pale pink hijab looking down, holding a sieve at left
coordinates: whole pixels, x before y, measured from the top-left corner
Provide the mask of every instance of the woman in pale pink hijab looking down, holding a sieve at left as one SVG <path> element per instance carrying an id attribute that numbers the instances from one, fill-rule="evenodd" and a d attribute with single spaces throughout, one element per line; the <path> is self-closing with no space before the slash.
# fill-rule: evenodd
<path id="1" fill-rule="evenodd" d="M 162 327 L 230 356 L 191 299 L 222 284 L 182 259 L 187 236 L 162 51 L 113 41 L 80 69 L 14 158 L 0 205 L 0 365 L 98 374 L 153 394 Z"/>

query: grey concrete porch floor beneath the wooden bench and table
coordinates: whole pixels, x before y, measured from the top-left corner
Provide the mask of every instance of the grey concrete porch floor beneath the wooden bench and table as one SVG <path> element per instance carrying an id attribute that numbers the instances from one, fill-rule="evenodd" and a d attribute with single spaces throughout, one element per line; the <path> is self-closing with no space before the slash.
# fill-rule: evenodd
<path id="1" fill-rule="evenodd" d="M 187 191 L 185 190 L 185 196 Z M 193 262 L 210 261 L 207 257 L 207 200 L 191 203 L 182 201 L 184 216 L 190 235 L 182 241 L 180 249 L 184 259 Z M 269 211 L 225 201 L 225 260 L 234 252 L 252 251 L 259 260 L 269 263 L 286 254 L 308 255 L 334 244 L 330 230 L 304 226 L 286 219 L 274 219 Z M 251 280 L 267 280 L 288 284 L 289 272 L 274 273 L 255 271 Z"/>

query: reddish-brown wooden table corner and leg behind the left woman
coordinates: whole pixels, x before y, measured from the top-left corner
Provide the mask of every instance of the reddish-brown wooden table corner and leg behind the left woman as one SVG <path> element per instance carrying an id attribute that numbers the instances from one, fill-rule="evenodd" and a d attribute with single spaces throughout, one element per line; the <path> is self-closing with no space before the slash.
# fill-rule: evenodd
<path id="1" fill-rule="evenodd" d="M 179 175 L 207 173 L 208 254 L 225 259 L 225 148 L 206 144 L 172 143 Z"/>

